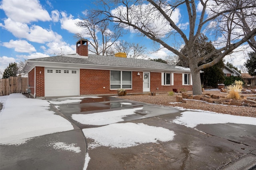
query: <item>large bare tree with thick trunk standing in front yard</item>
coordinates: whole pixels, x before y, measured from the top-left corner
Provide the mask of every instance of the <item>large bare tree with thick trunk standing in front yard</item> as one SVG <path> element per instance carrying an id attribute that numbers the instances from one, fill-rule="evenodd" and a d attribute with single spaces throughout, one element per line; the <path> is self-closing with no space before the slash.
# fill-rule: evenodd
<path id="1" fill-rule="evenodd" d="M 194 95 L 202 94 L 200 70 L 218 63 L 256 35 L 256 27 L 244 31 L 240 13 L 242 10 L 245 20 L 255 25 L 254 0 L 101 0 L 97 3 L 100 8 L 93 10 L 92 16 L 115 23 L 116 27 L 137 31 L 188 63 Z M 188 18 L 188 30 L 175 20 L 175 14 L 181 8 L 186 9 L 182 15 Z M 193 48 L 201 33 L 208 33 L 216 48 L 203 56 L 196 55 Z M 178 43 L 176 39 L 186 48 L 187 56 L 172 45 Z M 210 58 L 214 60 L 198 66 Z"/>

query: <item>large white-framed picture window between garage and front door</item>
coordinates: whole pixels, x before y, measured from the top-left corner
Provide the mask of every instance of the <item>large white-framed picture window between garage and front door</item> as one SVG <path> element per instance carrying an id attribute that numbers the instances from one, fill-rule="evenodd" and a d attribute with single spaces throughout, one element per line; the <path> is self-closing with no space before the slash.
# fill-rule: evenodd
<path id="1" fill-rule="evenodd" d="M 110 89 L 119 88 L 132 88 L 132 72 L 114 70 L 110 71 Z"/>

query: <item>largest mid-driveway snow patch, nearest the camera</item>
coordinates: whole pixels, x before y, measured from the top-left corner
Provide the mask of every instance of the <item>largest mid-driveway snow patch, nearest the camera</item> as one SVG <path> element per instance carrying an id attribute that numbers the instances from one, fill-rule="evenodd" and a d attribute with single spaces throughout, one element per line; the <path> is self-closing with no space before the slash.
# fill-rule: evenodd
<path id="1" fill-rule="evenodd" d="M 99 146 L 127 148 L 142 143 L 167 142 L 174 139 L 175 133 L 163 127 L 145 125 L 144 123 L 114 123 L 103 127 L 83 129 L 86 138 L 93 139 L 88 147 Z"/>

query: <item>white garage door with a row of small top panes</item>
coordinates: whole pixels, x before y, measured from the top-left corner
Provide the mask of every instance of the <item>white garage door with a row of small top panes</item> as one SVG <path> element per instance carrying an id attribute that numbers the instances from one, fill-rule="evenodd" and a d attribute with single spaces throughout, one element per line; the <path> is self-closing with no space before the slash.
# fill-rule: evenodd
<path id="1" fill-rule="evenodd" d="M 78 70 L 46 68 L 45 96 L 78 96 Z"/>

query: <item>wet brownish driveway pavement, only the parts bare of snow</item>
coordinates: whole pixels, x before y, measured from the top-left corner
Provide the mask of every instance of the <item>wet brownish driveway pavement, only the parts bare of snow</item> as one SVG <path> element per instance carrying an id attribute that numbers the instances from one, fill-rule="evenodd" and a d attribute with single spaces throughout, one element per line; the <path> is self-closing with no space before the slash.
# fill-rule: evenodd
<path id="1" fill-rule="evenodd" d="M 178 109 L 109 96 L 85 97 L 79 101 L 74 99 L 74 102 L 72 98 L 47 100 L 52 103 L 52 110 L 56 114 L 72 123 L 74 130 L 32 138 L 22 145 L 1 145 L 1 170 L 82 170 L 86 153 L 90 156 L 88 170 L 256 169 L 255 125 L 224 123 L 190 128 L 173 123 L 182 113 Z M 71 101 L 65 103 L 65 100 Z M 104 146 L 88 149 L 94 140 L 84 139 L 81 129 L 103 125 L 85 125 L 72 119 L 72 115 L 76 114 L 125 111 L 132 108 L 142 109 L 123 117 L 123 121 L 119 123 L 144 123 L 163 127 L 175 132 L 174 140 L 144 143 L 122 149 Z M 76 144 L 81 152 L 58 149 L 53 146 L 56 141 Z"/>

